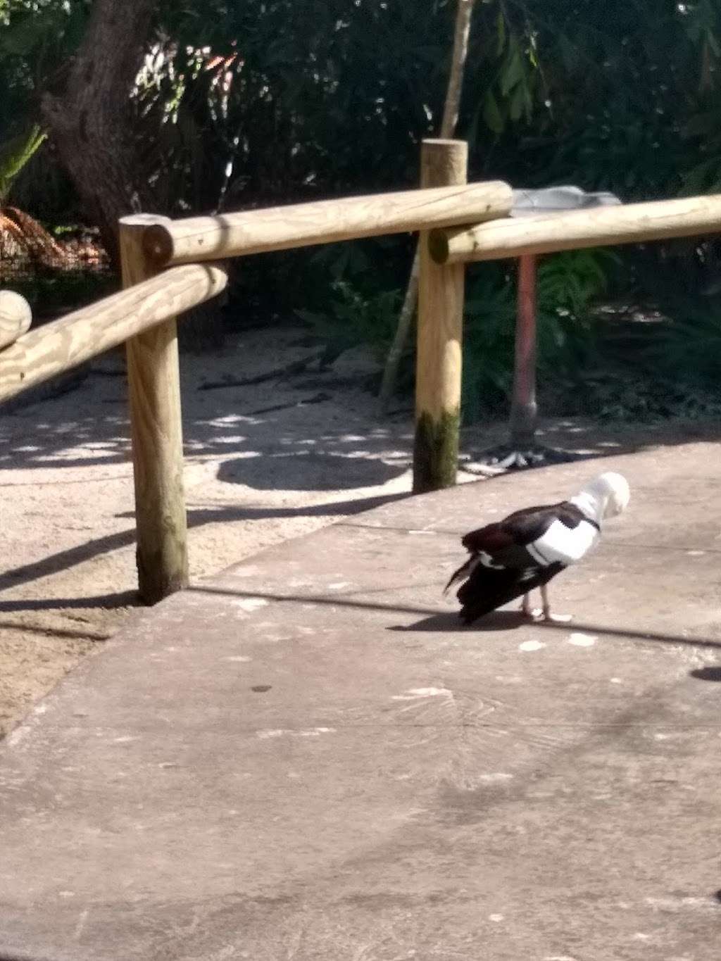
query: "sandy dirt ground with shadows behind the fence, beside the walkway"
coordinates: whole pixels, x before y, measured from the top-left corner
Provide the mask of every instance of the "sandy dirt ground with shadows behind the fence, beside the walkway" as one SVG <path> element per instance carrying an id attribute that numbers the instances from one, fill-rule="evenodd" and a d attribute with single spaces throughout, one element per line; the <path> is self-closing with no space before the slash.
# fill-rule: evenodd
<path id="1" fill-rule="evenodd" d="M 410 492 L 410 410 L 381 417 L 348 352 L 329 370 L 222 389 L 316 351 L 282 329 L 183 357 L 191 577 Z M 100 358 L 76 389 L 0 412 L 0 736 L 136 605 L 133 474 L 121 360 Z M 541 440 L 588 456 L 698 436 L 683 426 L 543 422 Z M 460 480 L 502 424 L 463 434 Z M 591 468 L 589 467 L 589 471 Z M 469 526 L 482 518 L 469 518 Z"/>

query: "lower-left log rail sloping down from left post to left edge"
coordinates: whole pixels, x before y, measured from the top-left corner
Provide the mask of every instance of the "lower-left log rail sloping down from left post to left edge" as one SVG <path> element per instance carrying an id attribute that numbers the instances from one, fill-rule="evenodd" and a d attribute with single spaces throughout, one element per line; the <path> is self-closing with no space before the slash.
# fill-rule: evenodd
<path id="1" fill-rule="evenodd" d="M 225 270 L 217 264 L 173 267 L 24 333 L 0 351 L 0 401 L 210 300 L 226 283 Z"/>

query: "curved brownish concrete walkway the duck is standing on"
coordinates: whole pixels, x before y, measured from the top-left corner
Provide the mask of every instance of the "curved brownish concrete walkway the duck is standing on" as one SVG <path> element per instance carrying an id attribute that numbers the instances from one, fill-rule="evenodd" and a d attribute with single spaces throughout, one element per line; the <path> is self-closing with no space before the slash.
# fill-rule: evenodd
<path id="1" fill-rule="evenodd" d="M 0 749 L 0 958 L 717 961 L 718 448 L 399 501 L 135 622 Z M 460 532 L 633 497 L 460 628 Z"/>

